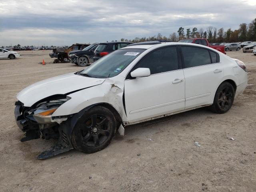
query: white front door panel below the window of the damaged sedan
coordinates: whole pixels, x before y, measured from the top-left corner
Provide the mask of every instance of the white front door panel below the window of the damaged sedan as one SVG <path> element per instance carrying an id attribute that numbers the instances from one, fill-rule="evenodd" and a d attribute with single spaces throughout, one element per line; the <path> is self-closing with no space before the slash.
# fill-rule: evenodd
<path id="1" fill-rule="evenodd" d="M 185 82 L 182 70 L 125 80 L 124 90 L 129 122 L 185 108 Z"/>

